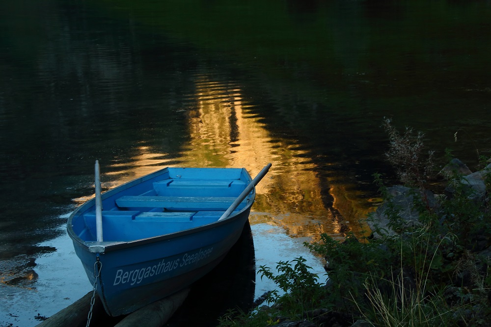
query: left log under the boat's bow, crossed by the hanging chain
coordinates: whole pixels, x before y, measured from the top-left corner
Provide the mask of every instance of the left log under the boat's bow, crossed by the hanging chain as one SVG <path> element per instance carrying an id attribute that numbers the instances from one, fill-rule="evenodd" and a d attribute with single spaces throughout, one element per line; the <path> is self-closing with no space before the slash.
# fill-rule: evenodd
<path id="1" fill-rule="evenodd" d="M 50 318 L 43 321 L 38 327 L 83 327 L 87 324 L 87 315 L 90 310 L 90 299 L 92 292 L 87 293 L 82 299 L 75 301 L 63 310 L 55 313 Z M 104 311 L 101 299 L 96 294 L 94 307 L 92 309 L 92 319 L 96 320 L 99 313 Z"/>

